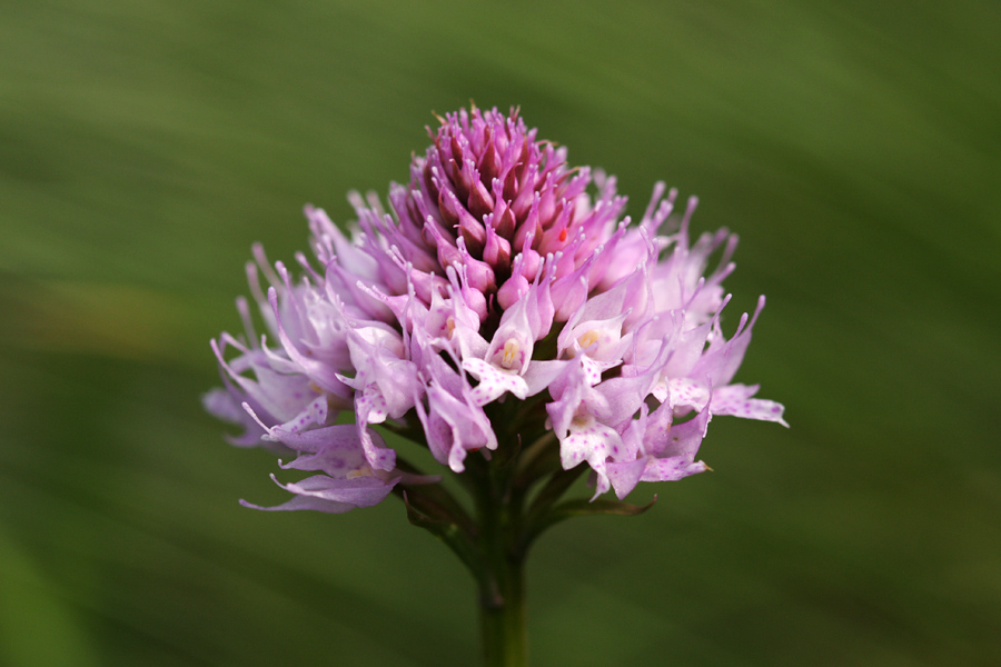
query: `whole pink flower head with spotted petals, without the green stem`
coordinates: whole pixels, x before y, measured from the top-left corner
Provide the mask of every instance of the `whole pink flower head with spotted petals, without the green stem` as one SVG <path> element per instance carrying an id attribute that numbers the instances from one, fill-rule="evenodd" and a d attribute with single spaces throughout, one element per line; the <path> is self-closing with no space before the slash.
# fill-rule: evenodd
<path id="1" fill-rule="evenodd" d="M 614 178 L 568 167 L 517 110 L 439 121 L 388 211 L 351 193 L 345 233 L 306 208 L 315 259 L 297 256 L 298 280 L 255 248 L 268 336 L 239 300 L 248 340 L 212 341 L 224 387 L 206 408 L 244 427 L 235 444 L 294 451 L 284 468 L 318 472 L 285 485 L 295 497 L 274 509 L 344 511 L 432 481 L 400 470 L 374 425 L 457 474 L 472 451 L 551 432 L 564 469 L 586 462 L 595 497 L 623 498 L 706 470 L 695 457 L 715 415 L 785 424 L 757 386 L 732 382 L 764 298 L 727 339 L 736 237 L 692 242 L 694 198 L 664 233 L 676 191 L 657 183 L 633 225 Z M 354 425 L 338 425 L 347 410 Z"/>

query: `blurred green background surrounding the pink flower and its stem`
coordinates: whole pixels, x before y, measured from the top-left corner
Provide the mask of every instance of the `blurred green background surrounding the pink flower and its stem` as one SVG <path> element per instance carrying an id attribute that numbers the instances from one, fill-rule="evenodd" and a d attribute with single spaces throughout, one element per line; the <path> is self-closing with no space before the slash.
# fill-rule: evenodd
<path id="1" fill-rule="evenodd" d="M 7 0 L 0 665 L 438 666 L 474 587 L 398 501 L 269 515 L 208 339 L 254 241 L 386 192 L 432 111 L 519 104 L 575 165 L 741 233 L 715 469 L 529 563 L 535 665 L 1001 663 L 1001 4 Z"/>

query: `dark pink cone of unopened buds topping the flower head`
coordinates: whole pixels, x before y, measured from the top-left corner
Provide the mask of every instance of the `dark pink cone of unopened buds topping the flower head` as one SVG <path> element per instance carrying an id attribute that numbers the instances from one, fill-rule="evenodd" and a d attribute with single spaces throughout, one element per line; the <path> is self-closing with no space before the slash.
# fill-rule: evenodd
<path id="1" fill-rule="evenodd" d="M 439 120 L 406 193 L 394 198 L 400 232 L 443 269 L 464 271 L 494 317 L 528 290 L 546 256 L 562 257 L 558 279 L 615 229 L 625 200 L 614 180 L 593 203 L 591 170 L 567 167 L 566 150 L 536 141 L 517 110 L 474 108 Z"/>

